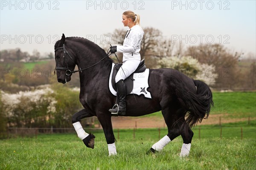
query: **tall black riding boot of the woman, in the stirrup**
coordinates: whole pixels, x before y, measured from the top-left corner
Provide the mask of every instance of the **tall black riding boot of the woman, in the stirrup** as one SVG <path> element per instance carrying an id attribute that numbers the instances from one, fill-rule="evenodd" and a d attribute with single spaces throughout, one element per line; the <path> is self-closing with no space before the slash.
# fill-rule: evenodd
<path id="1" fill-rule="evenodd" d="M 117 96 L 119 99 L 119 105 L 118 107 L 116 106 L 113 109 L 109 109 L 112 114 L 114 115 L 125 115 L 126 111 L 126 105 L 125 105 L 125 96 L 126 96 L 126 88 L 125 88 L 125 83 L 124 80 L 121 79 L 116 83 L 116 91 L 117 91 Z"/>

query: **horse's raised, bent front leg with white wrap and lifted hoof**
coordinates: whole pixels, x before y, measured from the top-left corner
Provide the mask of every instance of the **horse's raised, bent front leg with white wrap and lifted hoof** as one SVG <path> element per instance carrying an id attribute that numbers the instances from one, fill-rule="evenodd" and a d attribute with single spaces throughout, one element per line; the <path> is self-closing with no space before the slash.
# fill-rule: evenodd
<path id="1" fill-rule="evenodd" d="M 77 136 L 84 142 L 84 144 L 87 147 L 90 147 L 93 149 L 95 136 L 91 133 L 89 134 L 86 133 L 80 123 L 81 119 L 84 119 L 86 117 L 92 117 L 92 116 L 95 116 L 95 115 L 83 109 L 72 116 L 72 123 L 73 123 L 73 126 L 75 127 Z"/>

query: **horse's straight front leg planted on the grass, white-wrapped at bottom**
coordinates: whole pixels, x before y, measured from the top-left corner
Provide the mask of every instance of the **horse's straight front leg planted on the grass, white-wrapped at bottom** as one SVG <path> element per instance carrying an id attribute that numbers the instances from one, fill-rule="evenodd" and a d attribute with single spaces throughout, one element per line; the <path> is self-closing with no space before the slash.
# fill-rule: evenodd
<path id="1" fill-rule="evenodd" d="M 111 114 L 110 113 L 97 113 L 98 120 L 102 125 L 105 138 L 108 144 L 108 155 L 116 155 L 116 145 L 115 145 L 115 136 L 113 133 L 113 127 L 111 122 Z"/>

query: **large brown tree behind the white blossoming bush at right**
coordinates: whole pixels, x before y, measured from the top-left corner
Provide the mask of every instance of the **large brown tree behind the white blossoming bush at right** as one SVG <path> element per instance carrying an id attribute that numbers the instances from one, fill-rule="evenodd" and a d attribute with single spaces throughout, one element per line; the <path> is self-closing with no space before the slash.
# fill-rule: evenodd
<path id="1" fill-rule="evenodd" d="M 201 44 L 187 48 L 186 55 L 198 59 L 201 63 L 215 65 L 216 88 L 232 88 L 241 77 L 238 68 L 240 54 L 232 54 L 221 44 Z"/>

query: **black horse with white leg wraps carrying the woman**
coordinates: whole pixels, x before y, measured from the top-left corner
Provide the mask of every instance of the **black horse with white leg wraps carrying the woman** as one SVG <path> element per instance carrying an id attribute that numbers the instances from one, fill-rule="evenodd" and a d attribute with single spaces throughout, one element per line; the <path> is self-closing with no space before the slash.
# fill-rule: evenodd
<path id="1" fill-rule="evenodd" d="M 108 88 L 112 59 L 95 43 L 80 37 L 62 35 L 55 43 L 55 60 L 58 82 L 71 80 L 75 66 L 78 65 L 80 77 L 80 102 L 84 109 L 75 113 L 72 123 L 81 119 L 97 116 L 105 133 L 109 155 L 116 154 L 115 137 L 111 123 L 112 108 L 116 96 Z M 177 70 L 170 68 L 150 69 L 148 91 L 152 99 L 142 95 L 128 95 L 126 116 L 142 116 L 162 111 L 168 127 L 168 134 L 151 147 L 151 151 L 160 151 L 170 141 L 181 135 L 183 146 L 180 156 L 189 155 L 193 132 L 190 127 L 207 119 L 213 106 L 212 92 L 207 84 L 193 80 Z M 186 119 L 185 119 L 186 117 Z M 74 125 L 75 127 L 75 125 Z M 75 127 L 79 138 L 87 147 L 94 147 L 92 134 L 87 134 L 79 125 Z M 81 133 L 82 132 L 82 133 Z M 86 134 L 86 136 L 83 136 Z"/>

